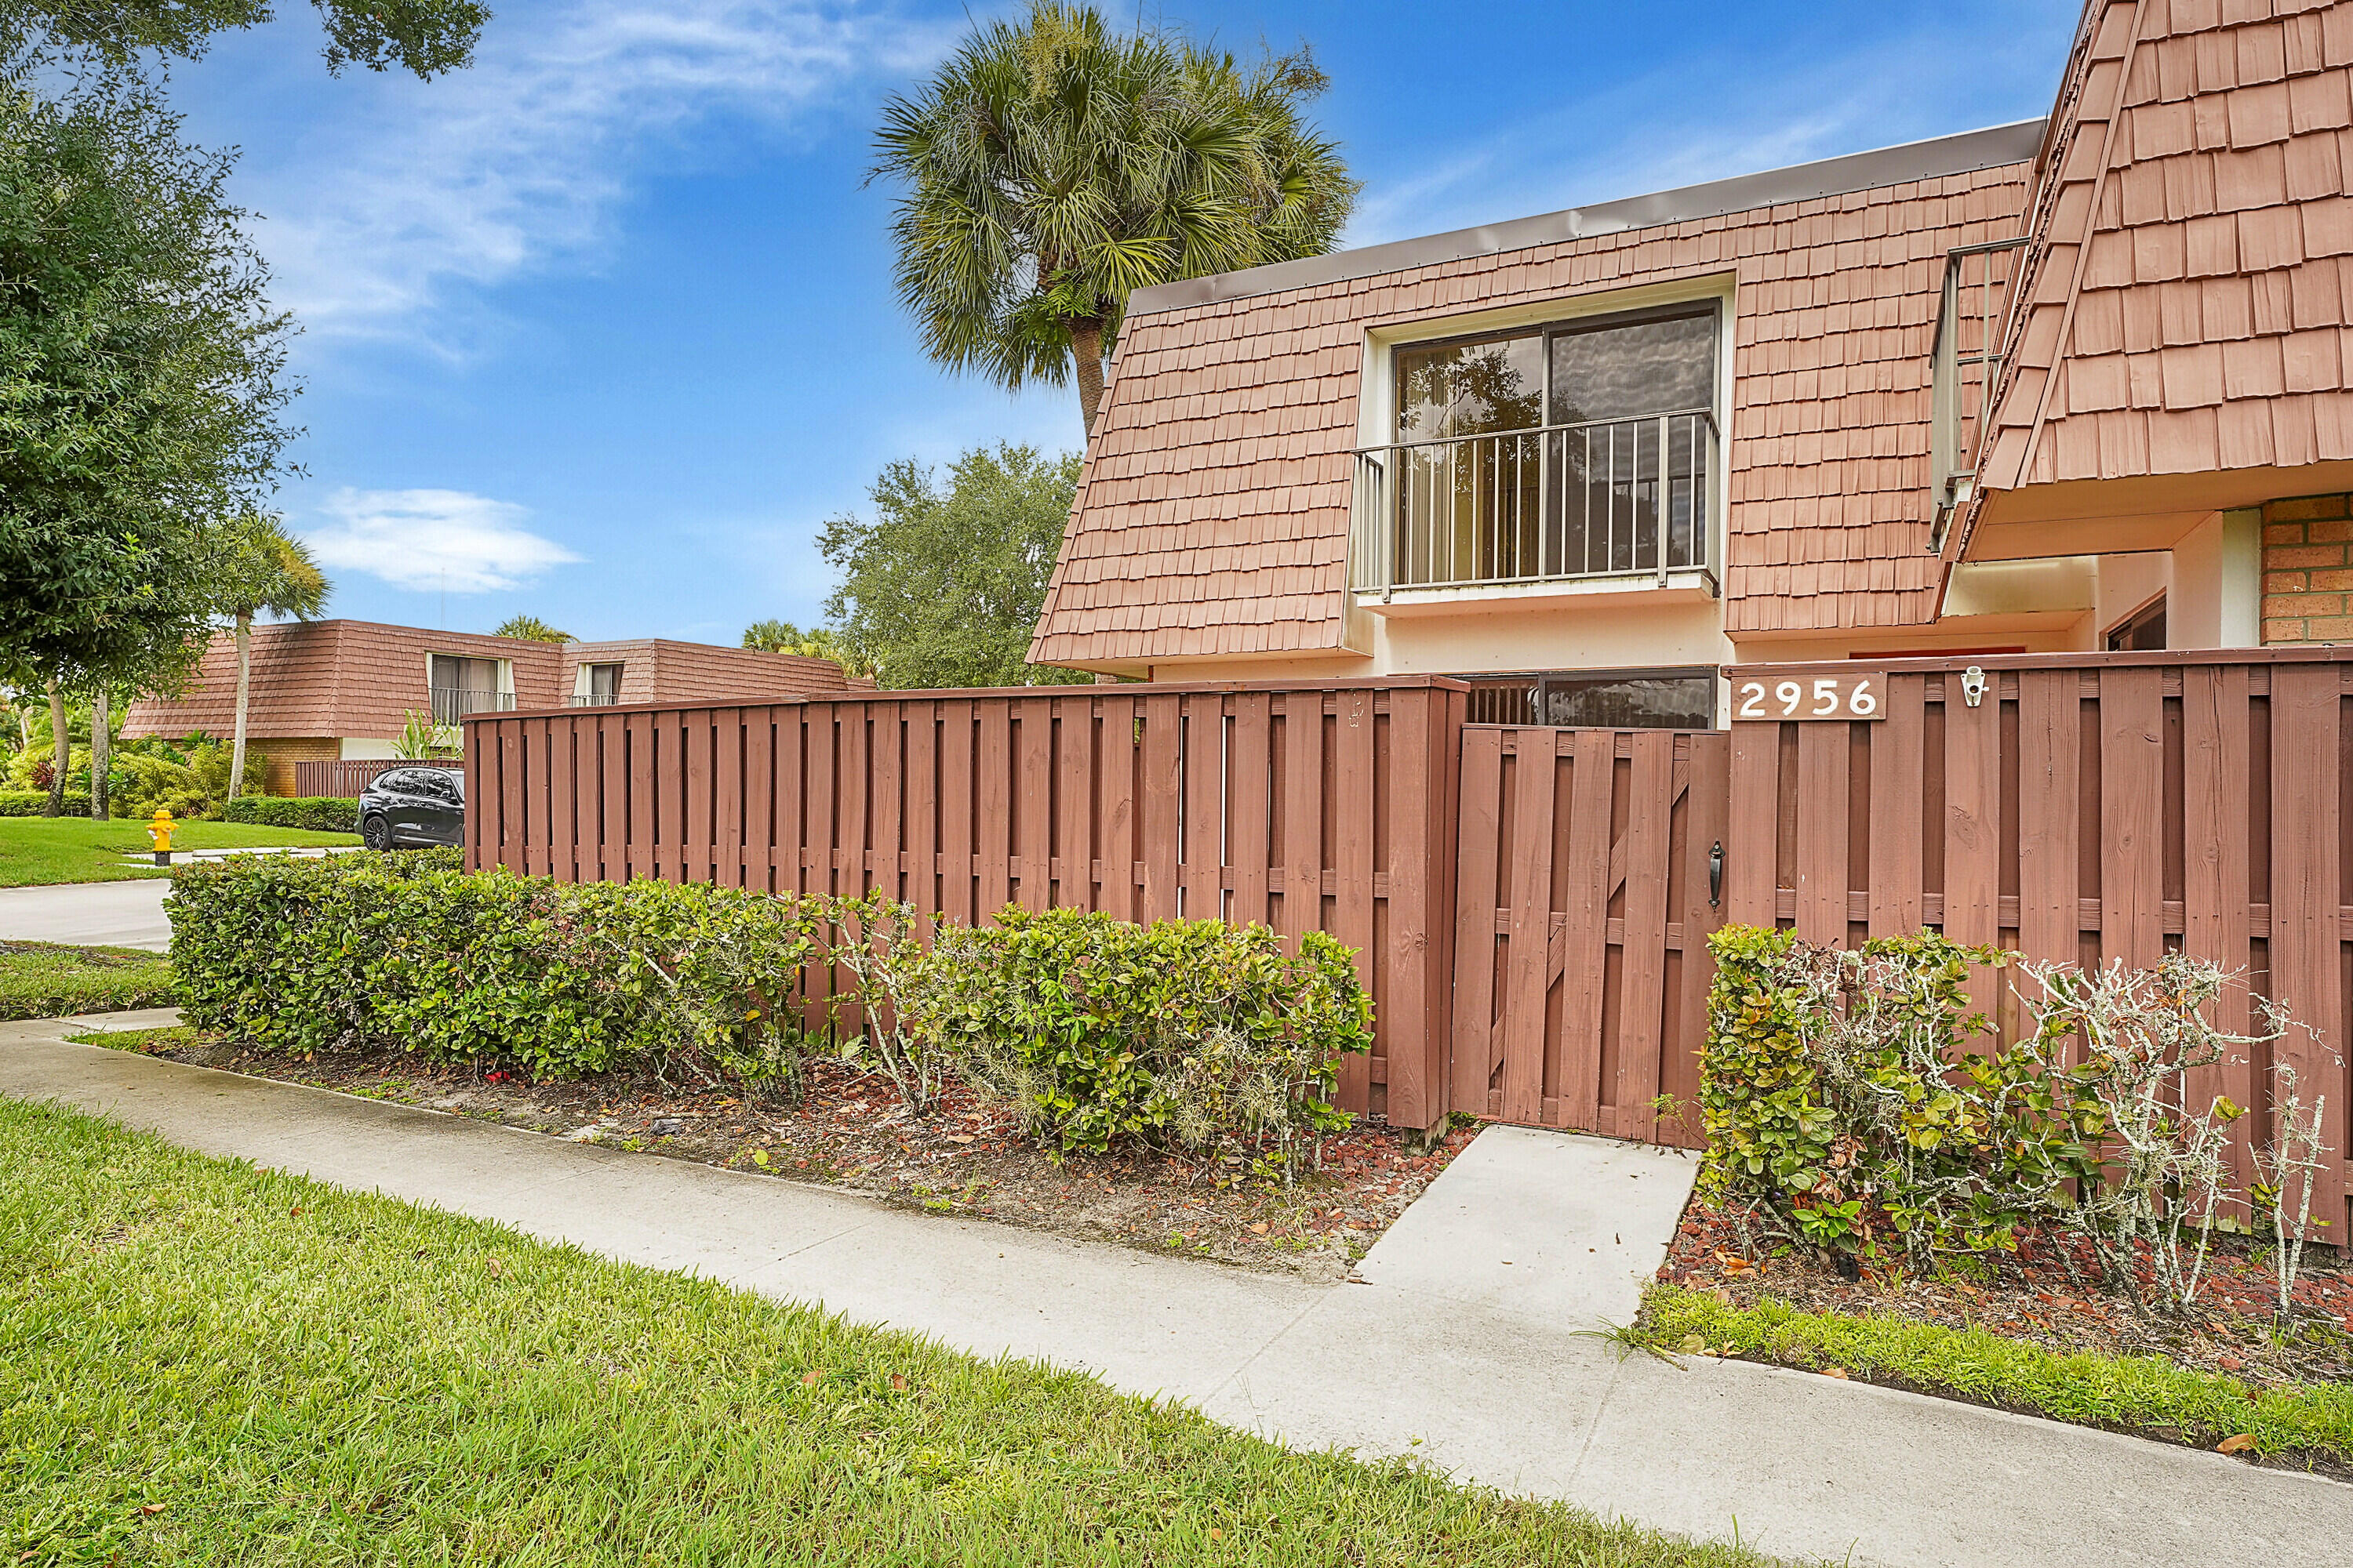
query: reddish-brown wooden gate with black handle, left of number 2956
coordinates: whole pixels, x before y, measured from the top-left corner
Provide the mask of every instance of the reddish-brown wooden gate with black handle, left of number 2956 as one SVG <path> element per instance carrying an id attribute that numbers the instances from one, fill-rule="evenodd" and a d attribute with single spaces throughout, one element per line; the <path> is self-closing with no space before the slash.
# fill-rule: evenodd
<path id="1" fill-rule="evenodd" d="M 1454 1110 L 1697 1143 L 1727 780 L 1720 731 L 1464 729 Z"/>

